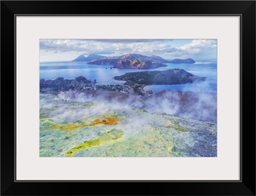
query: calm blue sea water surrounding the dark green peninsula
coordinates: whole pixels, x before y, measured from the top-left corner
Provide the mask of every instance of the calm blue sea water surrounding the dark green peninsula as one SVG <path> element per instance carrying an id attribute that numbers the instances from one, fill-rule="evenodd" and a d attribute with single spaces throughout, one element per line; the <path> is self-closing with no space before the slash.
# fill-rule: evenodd
<path id="1" fill-rule="evenodd" d="M 58 77 L 64 79 L 75 79 L 83 76 L 88 80 L 97 80 L 97 85 L 106 84 L 124 84 L 125 81 L 113 79 L 115 76 L 124 75 L 128 72 L 144 72 L 154 70 L 170 70 L 173 68 L 184 69 L 194 75 L 206 77 L 205 82 L 192 84 L 175 84 L 161 86 L 146 86 L 145 90 L 152 90 L 153 93 L 163 91 L 164 89 L 173 89 L 181 91 L 214 92 L 217 91 L 217 64 L 216 62 L 195 63 L 195 64 L 170 64 L 168 66 L 150 70 L 130 70 L 130 69 L 110 69 L 110 65 L 87 64 L 86 62 L 47 62 L 40 63 L 40 79 L 54 80 Z"/>

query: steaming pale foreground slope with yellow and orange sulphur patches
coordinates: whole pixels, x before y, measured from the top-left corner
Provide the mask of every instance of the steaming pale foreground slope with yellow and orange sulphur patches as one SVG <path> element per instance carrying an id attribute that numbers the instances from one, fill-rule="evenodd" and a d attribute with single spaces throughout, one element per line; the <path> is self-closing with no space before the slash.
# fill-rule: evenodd
<path id="1" fill-rule="evenodd" d="M 179 106 L 209 110 L 211 96 L 40 93 L 40 157 L 216 157 L 216 122 L 174 114 Z"/>

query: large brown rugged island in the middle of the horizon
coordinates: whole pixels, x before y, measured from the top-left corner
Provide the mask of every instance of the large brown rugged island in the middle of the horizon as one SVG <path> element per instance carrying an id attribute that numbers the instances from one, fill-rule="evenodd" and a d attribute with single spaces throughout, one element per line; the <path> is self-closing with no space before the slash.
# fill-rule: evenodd
<path id="1" fill-rule="evenodd" d="M 102 59 L 93 59 L 88 64 L 108 64 L 113 68 L 121 69 L 150 69 L 167 66 L 165 59 L 159 56 L 143 56 L 141 54 L 125 54 L 123 56 L 105 57 Z"/>

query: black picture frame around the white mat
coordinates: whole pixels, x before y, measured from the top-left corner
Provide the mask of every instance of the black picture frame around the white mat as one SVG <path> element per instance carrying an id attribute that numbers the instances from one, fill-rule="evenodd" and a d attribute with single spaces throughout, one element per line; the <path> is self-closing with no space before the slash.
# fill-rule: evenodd
<path id="1" fill-rule="evenodd" d="M 16 15 L 240 16 L 241 180 L 16 181 Z M 1 195 L 255 195 L 255 1 L 1 1 Z"/>

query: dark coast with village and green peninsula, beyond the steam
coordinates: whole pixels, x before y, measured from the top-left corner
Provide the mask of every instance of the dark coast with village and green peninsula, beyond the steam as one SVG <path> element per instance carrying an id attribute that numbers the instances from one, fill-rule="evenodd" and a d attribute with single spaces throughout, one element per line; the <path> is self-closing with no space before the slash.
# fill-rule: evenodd
<path id="1" fill-rule="evenodd" d="M 192 82 L 205 81 L 205 77 L 199 77 L 182 69 L 166 71 L 145 71 L 131 72 L 114 77 L 115 80 L 124 80 L 124 84 L 116 85 L 96 85 L 96 80 L 91 81 L 83 76 L 74 80 L 58 77 L 55 80 L 40 79 L 40 93 L 49 91 L 69 91 L 69 90 L 93 90 L 93 91 L 115 91 L 119 93 L 136 94 L 140 96 L 150 96 L 152 91 L 144 91 L 145 86 L 164 84 L 186 84 Z"/>

